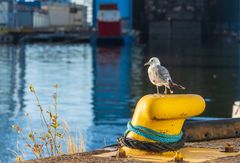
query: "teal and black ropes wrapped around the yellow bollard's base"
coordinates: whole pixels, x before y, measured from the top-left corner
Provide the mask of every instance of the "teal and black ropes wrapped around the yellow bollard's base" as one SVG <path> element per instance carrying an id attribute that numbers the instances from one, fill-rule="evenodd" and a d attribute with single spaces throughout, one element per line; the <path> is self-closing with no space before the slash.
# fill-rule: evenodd
<path id="1" fill-rule="evenodd" d="M 118 139 L 118 143 L 121 146 L 152 152 L 167 152 L 176 151 L 183 147 L 185 143 L 185 138 L 182 132 L 179 135 L 161 134 L 142 126 L 133 126 L 131 122 L 128 123 L 127 127 L 128 129 L 124 136 Z M 127 138 L 126 136 L 130 131 L 156 142 L 139 141 Z"/>

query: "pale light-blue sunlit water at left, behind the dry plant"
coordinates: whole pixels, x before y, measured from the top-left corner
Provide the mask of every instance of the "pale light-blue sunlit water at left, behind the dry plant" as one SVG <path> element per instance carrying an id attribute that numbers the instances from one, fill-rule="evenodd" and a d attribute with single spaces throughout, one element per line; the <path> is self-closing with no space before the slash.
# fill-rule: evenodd
<path id="1" fill-rule="evenodd" d="M 93 119 L 93 60 L 91 46 L 86 45 L 19 45 L 0 47 L 0 160 L 9 162 L 23 147 L 11 126 L 20 124 L 30 131 L 25 113 L 32 118 L 33 128 L 41 132 L 39 110 L 28 85 L 33 83 L 42 105 L 52 106 L 53 84 L 58 83 L 59 116 L 73 131 L 83 132 Z M 73 80 L 74 79 L 74 80 Z M 26 151 L 27 158 L 33 156 Z"/>

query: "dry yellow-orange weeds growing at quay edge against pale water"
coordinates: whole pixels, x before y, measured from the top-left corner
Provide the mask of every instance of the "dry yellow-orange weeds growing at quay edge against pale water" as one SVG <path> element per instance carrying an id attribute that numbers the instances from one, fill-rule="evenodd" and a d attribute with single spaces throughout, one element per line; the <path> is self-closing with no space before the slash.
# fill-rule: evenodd
<path id="1" fill-rule="evenodd" d="M 57 112 L 57 89 L 58 85 L 54 85 L 55 92 L 53 94 L 53 106 L 52 109 L 49 107 L 47 112 L 44 112 L 44 109 L 38 99 L 37 93 L 33 87 L 33 85 L 29 86 L 29 90 L 33 93 L 34 98 L 37 102 L 38 109 L 40 111 L 40 119 L 42 121 L 43 131 L 37 132 L 32 128 L 31 117 L 29 114 L 26 114 L 26 117 L 30 122 L 30 132 L 25 136 L 22 132 L 22 129 L 19 125 L 13 125 L 12 127 L 18 132 L 21 139 L 24 141 L 25 146 L 31 150 L 31 152 L 35 155 L 36 159 L 41 159 L 44 157 L 57 157 L 61 155 L 62 152 L 62 142 L 66 139 L 71 140 L 72 147 L 76 147 L 74 144 L 75 141 L 69 134 L 69 129 L 66 128 L 64 123 L 60 123 Z M 66 123 L 65 123 L 66 124 Z M 81 138 L 81 141 L 83 139 Z M 82 143 L 81 143 L 82 145 Z M 68 145 L 67 145 L 68 146 Z M 78 149 L 78 148 L 75 148 Z M 81 147 L 81 149 L 84 149 Z M 79 150 L 71 150 L 72 152 L 80 152 Z M 22 159 L 22 157 L 21 157 Z M 20 159 L 16 159 L 20 160 Z"/>

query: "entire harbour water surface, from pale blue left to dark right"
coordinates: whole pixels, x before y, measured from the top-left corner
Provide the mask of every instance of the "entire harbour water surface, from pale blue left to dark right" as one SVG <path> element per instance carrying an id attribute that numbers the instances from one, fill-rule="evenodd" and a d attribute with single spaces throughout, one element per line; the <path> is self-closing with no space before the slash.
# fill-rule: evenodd
<path id="1" fill-rule="evenodd" d="M 96 48 L 90 44 L 27 44 L 0 46 L 0 160 L 9 162 L 23 144 L 11 125 L 41 130 L 32 83 L 42 105 L 52 104 L 53 84 L 59 84 L 58 111 L 73 133 L 84 135 L 87 150 L 116 143 L 132 116 L 137 100 L 155 92 L 143 63 L 158 56 L 186 93 L 207 101 L 203 117 L 230 117 L 240 98 L 240 46 L 232 43 L 197 47 L 153 46 Z M 183 93 L 183 92 L 180 92 Z M 25 151 L 26 158 L 33 156 Z"/>

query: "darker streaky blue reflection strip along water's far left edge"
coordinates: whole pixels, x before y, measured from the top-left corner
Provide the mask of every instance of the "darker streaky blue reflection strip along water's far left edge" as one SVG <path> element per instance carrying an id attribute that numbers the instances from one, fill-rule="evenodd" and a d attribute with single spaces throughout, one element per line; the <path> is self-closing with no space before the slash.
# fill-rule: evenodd
<path id="1" fill-rule="evenodd" d="M 17 137 L 11 129 L 24 106 L 24 46 L 0 46 L 0 158 L 8 160 L 16 149 Z"/>

